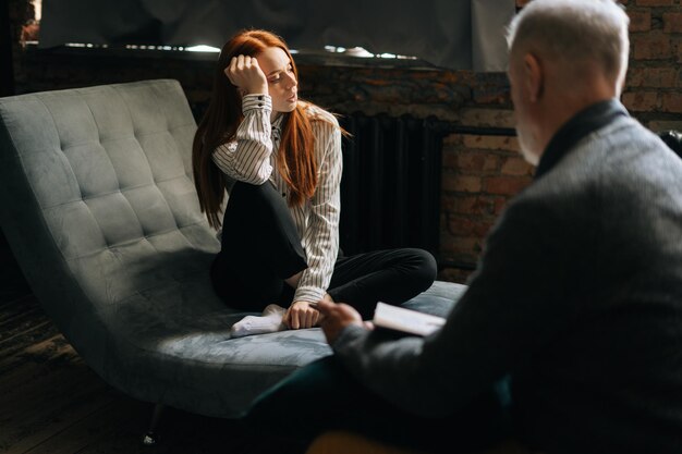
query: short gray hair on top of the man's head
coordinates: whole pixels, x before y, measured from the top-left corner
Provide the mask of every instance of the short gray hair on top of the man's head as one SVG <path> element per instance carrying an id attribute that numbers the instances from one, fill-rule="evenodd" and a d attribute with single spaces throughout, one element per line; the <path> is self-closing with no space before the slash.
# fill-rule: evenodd
<path id="1" fill-rule="evenodd" d="M 622 77 L 630 19 L 614 0 L 533 0 L 514 17 L 507 39 L 513 52 L 537 50 L 570 65 L 596 62 Z"/>

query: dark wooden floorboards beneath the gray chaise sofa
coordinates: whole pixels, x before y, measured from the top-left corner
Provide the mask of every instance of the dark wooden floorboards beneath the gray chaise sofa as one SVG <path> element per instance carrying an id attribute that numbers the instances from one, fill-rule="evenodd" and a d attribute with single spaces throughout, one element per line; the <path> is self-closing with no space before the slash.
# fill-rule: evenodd
<path id="1" fill-rule="evenodd" d="M 144 446 L 153 406 L 99 379 L 46 317 L 11 256 L 0 254 L 0 453 L 244 452 L 233 422 L 168 409 Z M 235 442 L 238 440 L 238 442 Z"/>

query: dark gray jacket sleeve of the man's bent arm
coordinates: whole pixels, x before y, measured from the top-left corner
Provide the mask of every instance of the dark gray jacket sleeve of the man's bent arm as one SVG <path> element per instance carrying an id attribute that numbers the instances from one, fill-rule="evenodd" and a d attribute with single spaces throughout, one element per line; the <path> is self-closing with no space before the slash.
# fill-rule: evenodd
<path id="1" fill-rule="evenodd" d="M 398 340 L 354 326 L 341 332 L 332 348 L 351 373 L 407 412 L 444 416 L 527 364 L 576 319 L 567 277 L 579 274 L 568 263 L 584 263 L 589 257 L 576 255 L 588 253 L 552 241 L 547 230 L 556 223 L 545 210 L 510 211 L 441 330 Z"/>

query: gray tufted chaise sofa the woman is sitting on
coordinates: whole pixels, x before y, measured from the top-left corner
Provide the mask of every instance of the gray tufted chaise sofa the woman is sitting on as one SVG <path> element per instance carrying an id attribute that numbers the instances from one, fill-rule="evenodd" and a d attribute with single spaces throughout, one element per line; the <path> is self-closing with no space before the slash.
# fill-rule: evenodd
<path id="1" fill-rule="evenodd" d="M 106 382 L 137 400 L 234 417 L 330 354 L 319 329 L 230 339 L 245 312 L 214 294 L 219 250 L 191 169 L 180 84 L 0 99 L 0 222 L 42 307 Z M 444 315 L 464 286 L 407 307 Z"/>

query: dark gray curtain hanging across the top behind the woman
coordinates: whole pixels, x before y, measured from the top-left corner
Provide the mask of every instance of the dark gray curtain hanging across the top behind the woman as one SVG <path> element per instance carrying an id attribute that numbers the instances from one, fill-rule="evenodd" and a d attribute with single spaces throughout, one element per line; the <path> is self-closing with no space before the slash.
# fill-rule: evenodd
<path id="1" fill-rule="evenodd" d="M 265 28 L 294 49 L 363 47 L 438 66 L 502 71 L 514 0 L 44 0 L 40 46 L 222 47 Z"/>

